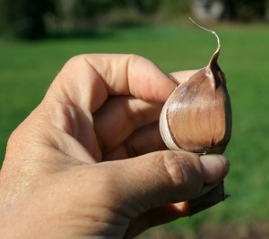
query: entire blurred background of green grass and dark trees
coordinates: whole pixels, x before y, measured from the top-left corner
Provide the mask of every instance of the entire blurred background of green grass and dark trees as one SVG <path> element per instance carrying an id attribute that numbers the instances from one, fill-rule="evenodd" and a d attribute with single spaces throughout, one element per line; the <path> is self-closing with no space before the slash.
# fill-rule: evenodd
<path id="1" fill-rule="evenodd" d="M 240 7 L 227 6 L 226 1 L 218 15 L 213 5 L 204 10 L 197 6 L 204 1 L 43 1 L 39 12 L 33 4 L 39 1 L 8 2 L 0 0 L 0 165 L 13 129 L 39 104 L 56 73 L 74 55 L 143 55 L 166 73 L 204 67 L 217 42 L 188 21 L 192 16 L 221 38 L 219 64 L 233 109 L 233 133 L 225 152 L 230 158 L 225 184 L 231 197 L 140 238 L 222 238 L 227 231 L 231 234 L 223 238 L 269 238 L 266 1 L 256 1 L 262 6 L 239 1 Z M 204 15 L 197 12 L 199 7 Z M 42 16 L 38 27 L 35 15 Z"/>

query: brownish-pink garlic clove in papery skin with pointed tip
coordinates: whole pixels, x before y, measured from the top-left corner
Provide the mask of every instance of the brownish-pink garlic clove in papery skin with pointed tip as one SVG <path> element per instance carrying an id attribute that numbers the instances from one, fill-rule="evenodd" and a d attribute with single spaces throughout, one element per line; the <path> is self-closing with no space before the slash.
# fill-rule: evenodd
<path id="1" fill-rule="evenodd" d="M 220 49 L 219 44 L 209 64 L 179 85 L 166 101 L 160 122 L 169 149 L 221 154 L 230 141 L 230 96 L 217 62 Z"/>

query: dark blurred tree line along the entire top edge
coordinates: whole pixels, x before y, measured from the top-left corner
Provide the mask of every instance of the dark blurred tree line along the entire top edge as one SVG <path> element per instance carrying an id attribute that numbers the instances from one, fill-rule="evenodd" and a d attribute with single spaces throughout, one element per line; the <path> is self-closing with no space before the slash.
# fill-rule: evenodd
<path id="1" fill-rule="evenodd" d="M 216 3 L 221 3 L 225 10 L 221 17 L 240 20 L 250 12 L 251 18 L 265 14 L 266 1 L 0 0 L 0 33 L 7 32 L 18 38 L 44 38 L 51 32 L 89 32 L 109 24 L 123 26 L 152 19 L 172 19 L 190 13 L 198 6 L 202 6 L 204 13 L 209 15 Z"/>

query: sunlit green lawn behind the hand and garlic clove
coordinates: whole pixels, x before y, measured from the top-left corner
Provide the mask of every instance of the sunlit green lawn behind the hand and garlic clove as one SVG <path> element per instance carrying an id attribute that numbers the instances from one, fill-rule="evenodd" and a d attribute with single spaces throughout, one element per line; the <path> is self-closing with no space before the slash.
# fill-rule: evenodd
<path id="1" fill-rule="evenodd" d="M 221 38 L 220 64 L 228 81 L 233 134 L 225 152 L 229 200 L 171 227 L 195 230 L 211 224 L 251 223 L 268 217 L 269 35 L 263 25 L 214 26 Z M 133 53 L 165 72 L 204 67 L 216 48 L 212 34 L 180 26 L 111 31 L 92 38 L 39 42 L 0 38 L 0 158 L 13 129 L 39 104 L 63 64 L 82 53 Z M 1 165 L 1 160 L 0 160 Z"/>

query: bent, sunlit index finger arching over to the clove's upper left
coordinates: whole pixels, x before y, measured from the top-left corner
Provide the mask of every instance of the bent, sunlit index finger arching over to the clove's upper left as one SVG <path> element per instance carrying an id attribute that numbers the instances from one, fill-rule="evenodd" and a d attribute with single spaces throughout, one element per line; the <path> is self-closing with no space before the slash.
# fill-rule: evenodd
<path id="1" fill-rule="evenodd" d="M 93 113 L 108 95 L 132 95 L 162 103 L 174 88 L 175 83 L 142 56 L 96 54 L 69 60 L 49 91 L 62 102 L 71 100 Z"/>

